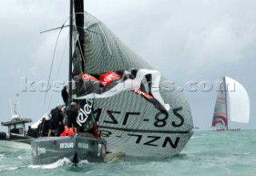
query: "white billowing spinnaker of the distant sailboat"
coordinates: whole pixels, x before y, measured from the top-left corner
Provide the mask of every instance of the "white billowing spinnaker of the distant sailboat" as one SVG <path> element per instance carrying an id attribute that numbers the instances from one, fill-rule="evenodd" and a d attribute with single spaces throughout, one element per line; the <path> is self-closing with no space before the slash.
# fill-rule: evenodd
<path id="1" fill-rule="evenodd" d="M 246 89 L 236 80 L 225 77 L 230 102 L 230 120 L 248 123 L 250 119 L 250 99 Z"/>

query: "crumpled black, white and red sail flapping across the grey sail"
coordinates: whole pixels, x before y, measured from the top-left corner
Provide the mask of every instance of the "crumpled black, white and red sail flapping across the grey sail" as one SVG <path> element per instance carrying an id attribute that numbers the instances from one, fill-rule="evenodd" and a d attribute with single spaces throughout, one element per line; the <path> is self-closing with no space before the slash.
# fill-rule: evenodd
<path id="1" fill-rule="evenodd" d="M 164 104 L 161 94 L 158 89 L 161 74 L 157 70 L 122 70 L 117 71 L 117 74 L 110 71 L 106 74 L 94 75 L 79 74 L 74 77 L 76 82 L 76 92 L 73 95 L 75 100 L 87 98 L 109 98 L 111 96 L 120 94 L 123 91 L 132 90 L 135 94 L 140 94 L 142 98 L 146 98 L 149 102 L 153 103 L 154 107 L 160 111 L 170 110 L 168 104 Z M 150 77 L 149 93 L 142 91 L 144 84 L 142 79 Z M 150 83 L 146 82 L 146 83 Z"/>

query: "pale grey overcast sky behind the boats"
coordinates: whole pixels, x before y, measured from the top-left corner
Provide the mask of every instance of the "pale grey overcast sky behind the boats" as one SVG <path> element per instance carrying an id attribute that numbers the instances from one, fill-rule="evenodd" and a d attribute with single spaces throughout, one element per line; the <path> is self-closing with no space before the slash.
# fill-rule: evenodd
<path id="1" fill-rule="evenodd" d="M 216 91 L 203 92 L 200 82 L 229 76 L 245 86 L 250 97 L 250 123 L 255 129 L 256 1 L 254 0 L 85 0 L 85 10 L 99 18 L 135 53 L 183 88 L 194 126 L 210 130 Z M 1 122 L 10 120 L 10 99 L 19 94 L 23 118 L 34 122 L 61 101 L 47 94 L 47 81 L 58 30 L 40 34 L 66 21 L 68 0 L 8 0 L 0 6 Z M 61 34 L 52 80 L 67 81 L 67 31 Z M 25 82 L 34 81 L 25 90 Z M 198 91 L 186 82 L 198 82 Z M 31 90 L 36 89 L 35 92 Z M 51 98 L 52 97 L 52 98 Z M 49 103 L 50 102 L 50 103 Z M 44 109 L 44 110 L 43 110 Z M 0 127 L 0 130 L 4 130 Z"/>

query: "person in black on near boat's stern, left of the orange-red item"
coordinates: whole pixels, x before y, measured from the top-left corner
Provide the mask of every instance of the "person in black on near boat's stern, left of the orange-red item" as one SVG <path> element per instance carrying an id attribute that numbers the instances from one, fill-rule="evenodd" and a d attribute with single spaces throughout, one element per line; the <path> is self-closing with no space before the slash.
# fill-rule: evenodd
<path id="1" fill-rule="evenodd" d="M 59 105 L 53 110 L 50 111 L 51 120 L 50 120 L 50 130 L 48 133 L 48 137 L 50 137 L 52 130 L 57 130 L 57 136 L 60 136 L 62 132 L 65 130 L 63 124 L 63 114 L 62 114 L 62 106 Z"/>

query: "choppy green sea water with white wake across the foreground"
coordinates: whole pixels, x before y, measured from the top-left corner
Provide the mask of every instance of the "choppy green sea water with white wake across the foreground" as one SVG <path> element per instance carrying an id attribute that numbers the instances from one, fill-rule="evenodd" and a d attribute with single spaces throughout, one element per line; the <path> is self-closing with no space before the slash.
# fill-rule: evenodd
<path id="1" fill-rule="evenodd" d="M 72 165 L 66 158 L 33 165 L 30 151 L 0 151 L 0 175 L 256 175 L 256 130 L 195 131 L 172 158 L 119 158 L 116 162 Z"/>

